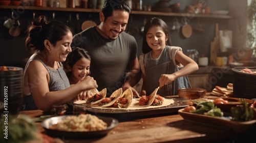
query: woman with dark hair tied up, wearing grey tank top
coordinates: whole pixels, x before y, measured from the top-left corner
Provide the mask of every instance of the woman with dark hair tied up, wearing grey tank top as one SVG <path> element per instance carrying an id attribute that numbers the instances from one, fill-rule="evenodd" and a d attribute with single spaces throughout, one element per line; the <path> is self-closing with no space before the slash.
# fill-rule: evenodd
<path id="1" fill-rule="evenodd" d="M 65 104 L 86 90 L 97 88 L 96 81 L 86 76 L 70 87 L 61 62 L 71 52 L 72 32 L 59 21 L 39 16 L 27 30 L 26 47 L 33 53 L 25 67 L 25 109 L 49 111 L 53 105 Z"/>

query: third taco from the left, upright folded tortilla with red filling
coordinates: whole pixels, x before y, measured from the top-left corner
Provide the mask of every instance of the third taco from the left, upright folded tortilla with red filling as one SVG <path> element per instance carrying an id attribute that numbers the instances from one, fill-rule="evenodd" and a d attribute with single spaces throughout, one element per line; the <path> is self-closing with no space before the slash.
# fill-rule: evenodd
<path id="1" fill-rule="evenodd" d="M 122 95 L 113 104 L 116 108 L 128 108 L 132 104 L 133 92 L 131 89 L 125 90 Z"/>

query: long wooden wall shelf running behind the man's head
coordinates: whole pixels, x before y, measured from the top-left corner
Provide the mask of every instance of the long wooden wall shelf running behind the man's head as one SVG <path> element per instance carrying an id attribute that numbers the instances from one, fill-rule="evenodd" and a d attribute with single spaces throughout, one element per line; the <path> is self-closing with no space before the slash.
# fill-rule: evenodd
<path id="1" fill-rule="evenodd" d="M 34 7 L 34 6 L 0 6 L 0 9 L 25 9 L 25 10 L 42 10 L 42 11 L 68 11 L 68 12 L 93 12 L 98 13 L 100 9 L 84 9 L 84 8 L 50 8 L 50 7 Z M 186 17 L 202 17 L 202 18 L 224 18 L 229 19 L 229 15 L 213 15 L 213 14 L 189 14 L 189 13 L 165 13 L 152 11 L 132 11 L 133 15 L 159 15 L 159 16 L 186 16 Z"/>

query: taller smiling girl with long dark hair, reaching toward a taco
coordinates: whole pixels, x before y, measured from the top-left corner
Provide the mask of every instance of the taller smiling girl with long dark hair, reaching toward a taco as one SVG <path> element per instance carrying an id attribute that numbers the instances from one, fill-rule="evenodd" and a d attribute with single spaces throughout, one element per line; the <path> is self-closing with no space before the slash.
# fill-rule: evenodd
<path id="1" fill-rule="evenodd" d="M 162 19 L 154 17 L 146 22 L 142 52 L 141 96 L 150 95 L 158 87 L 160 96 L 177 95 L 178 88 L 190 87 L 186 75 L 197 71 L 198 65 L 180 47 L 170 46 L 169 28 Z"/>

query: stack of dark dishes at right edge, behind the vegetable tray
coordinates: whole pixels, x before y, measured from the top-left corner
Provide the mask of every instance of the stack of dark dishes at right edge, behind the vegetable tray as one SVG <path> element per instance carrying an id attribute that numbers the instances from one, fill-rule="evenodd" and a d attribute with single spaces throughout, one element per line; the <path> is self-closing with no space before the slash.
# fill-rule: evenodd
<path id="1" fill-rule="evenodd" d="M 248 68 L 256 71 L 256 67 L 232 68 L 233 72 L 233 97 L 252 99 L 256 98 L 256 74 L 240 72 Z"/>

